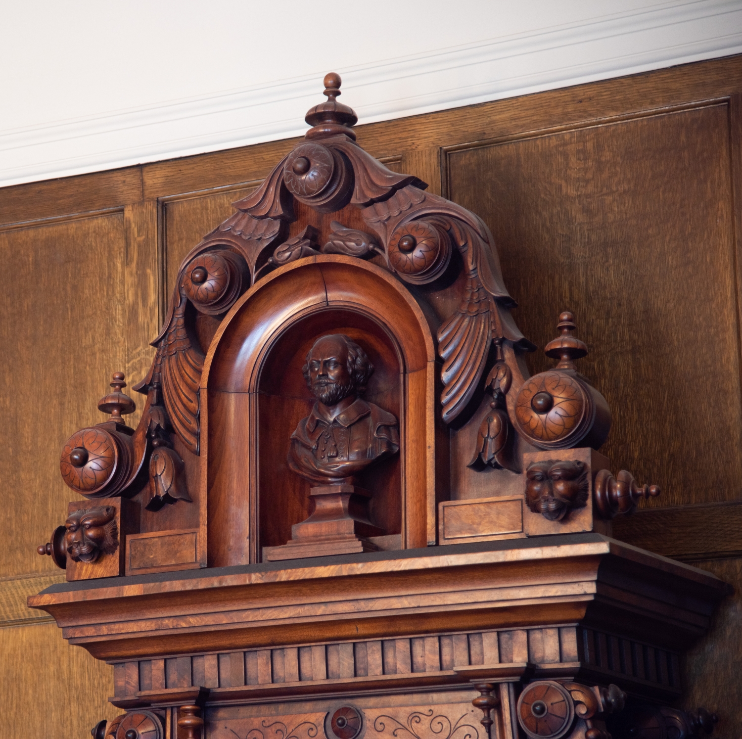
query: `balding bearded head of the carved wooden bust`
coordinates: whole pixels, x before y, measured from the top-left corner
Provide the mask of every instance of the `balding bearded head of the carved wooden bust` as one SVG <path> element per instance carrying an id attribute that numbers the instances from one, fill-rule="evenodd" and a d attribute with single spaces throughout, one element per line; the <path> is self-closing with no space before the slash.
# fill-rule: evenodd
<path id="1" fill-rule="evenodd" d="M 349 395 L 364 393 L 373 366 L 364 350 L 346 335 L 330 334 L 315 341 L 302 371 L 315 398 L 333 406 Z"/>

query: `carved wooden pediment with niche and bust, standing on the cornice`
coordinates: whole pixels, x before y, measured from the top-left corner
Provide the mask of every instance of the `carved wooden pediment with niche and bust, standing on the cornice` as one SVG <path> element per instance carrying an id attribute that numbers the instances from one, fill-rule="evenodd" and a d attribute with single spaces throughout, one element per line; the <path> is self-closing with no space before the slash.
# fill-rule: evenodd
<path id="1" fill-rule="evenodd" d="M 116 372 L 107 420 L 62 451 L 72 490 L 127 502 L 106 576 L 610 533 L 660 493 L 597 452 L 611 411 L 574 315 L 529 376 L 485 223 L 367 154 L 324 85 L 303 141 L 183 260 L 137 428 Z M 73 519 L 39 553 L 96 577 Z"/>

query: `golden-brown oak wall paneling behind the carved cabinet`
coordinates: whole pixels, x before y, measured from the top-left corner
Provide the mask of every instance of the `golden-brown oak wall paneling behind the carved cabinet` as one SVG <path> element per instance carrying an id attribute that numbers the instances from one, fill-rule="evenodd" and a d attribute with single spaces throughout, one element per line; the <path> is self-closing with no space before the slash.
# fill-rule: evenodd
<path id="1" fill-rule="evenodd" d="M 344 94 L 352 105 L 352 89 Z M 387 166 L 487 221 L 528 338 L 543 346 L 559 311 L 576 313 L 591 349 L 580 369 L 611 378 L 597 382 L 614 411 L 603 451 L 616 470 L 663 486 L 651 508 L 617 522 L 617 536 L 738 589 L 741 94 L 742 57 L 732 57 L 356 129 Z M 111 372 L 125 371 L 130 386 L 145 374 L 180 260 L 294 145 L 0 189 L 10 275 L 0 298 L 0 471 L 12 481 L 14 532 L 0 542 L 0 654 L 12 666 L 1 687 L 12 739 L 32 713 L 44 737 L 85 736 L 119 713 L 106 704 L 111 667 L 68 647 L 36 611 L 24 622 L 18 605 L 63 577 L 35 552 L 74 497 L 58 450 L 99 420 Z M 528 362 L 548 364 L 540 349 Z M 720 736 L 742 729 L 728 709 L 738 697 L 729 680 L 738 611 L 737 597 L 725 602 L 685 666 L 686 707 L 718 709 Z M 42 660 L 55 669 L 46 693 Z"/>

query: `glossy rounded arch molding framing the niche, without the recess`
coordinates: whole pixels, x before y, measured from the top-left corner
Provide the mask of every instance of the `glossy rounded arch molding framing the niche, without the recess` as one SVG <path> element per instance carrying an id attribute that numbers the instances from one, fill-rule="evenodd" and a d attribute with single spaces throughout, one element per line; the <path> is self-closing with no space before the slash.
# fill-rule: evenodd
<path id="1" fill-rule="evenodd" d="M 209 499 L 209 565 L 260 561 L 261 373 L 286 332 L 327 314 L 358 315 L 385 332 L 400 382 L 403 548 L 435 542 L 435 326 L 410 291 L 372 263 L 341 255 L 308 257 L 275 270 L 249 289 L 211 342 L 201 378 L 201 479 Z M 316 322 L 316 321 L 315 321 Z M 342 322 L 341 322 L 342 325 Z M 298 421 L 298 418 L 296 419 Z M 210 432 L 210 428 L 218 432 Z M 286 438 L 288 442 L 288 437 Z"/>

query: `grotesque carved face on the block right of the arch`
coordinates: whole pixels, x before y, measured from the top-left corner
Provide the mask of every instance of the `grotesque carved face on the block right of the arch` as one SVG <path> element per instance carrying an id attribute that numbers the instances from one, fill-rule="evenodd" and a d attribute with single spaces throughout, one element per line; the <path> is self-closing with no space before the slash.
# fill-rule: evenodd
<path id="1" fill-rule="evenodd" d="M 572 508 L 588 500 L 588 473 L 584 462 L 532 462 L 525 473 L 525 497 L 533 513 L 561 521 Z"/>

